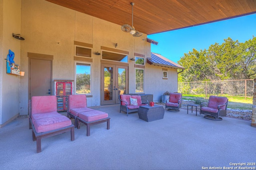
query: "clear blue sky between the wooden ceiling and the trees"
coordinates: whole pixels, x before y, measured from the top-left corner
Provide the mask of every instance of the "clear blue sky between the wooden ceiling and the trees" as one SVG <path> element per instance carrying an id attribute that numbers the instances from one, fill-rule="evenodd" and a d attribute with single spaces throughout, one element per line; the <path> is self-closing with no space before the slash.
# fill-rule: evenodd
<path id="1" fill-rule="evenodd" d="M 256 14 L 148 35 L 148 38 L 158 42 L 158 45 L 151 44 L 151 52 L 177 63 L 193 48 L 208 49 L 212 44 L 222 44 L 228 37 L 244 43 L 253 35 L 256 36 Z"/>

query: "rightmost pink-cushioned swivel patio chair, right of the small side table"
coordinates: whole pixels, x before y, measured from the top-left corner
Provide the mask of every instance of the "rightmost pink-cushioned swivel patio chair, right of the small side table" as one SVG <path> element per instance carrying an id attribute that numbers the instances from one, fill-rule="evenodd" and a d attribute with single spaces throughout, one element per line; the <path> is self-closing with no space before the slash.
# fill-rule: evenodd
<path id="1" fill-rule="evenodd" d="M 228 98 L 210 96 L 209 102 L 201 103 L 200 114 L 210 120 L 221 121 L 221 117 L 227 116 Z"/>

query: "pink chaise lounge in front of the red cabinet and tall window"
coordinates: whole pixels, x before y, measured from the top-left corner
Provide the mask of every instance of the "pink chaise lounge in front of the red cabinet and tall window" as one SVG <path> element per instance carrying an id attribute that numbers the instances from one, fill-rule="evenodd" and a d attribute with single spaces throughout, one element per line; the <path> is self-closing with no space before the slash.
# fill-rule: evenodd
<path id="1" fill-rule="evenodd" d="M 110 117 L 108 113 L 90 109 L 87 107 L 86 95 L 68 96 L 68 116 L 75 119 L 75 127 L 80 129 L 80 122 L 86 125 L 87 136 L 90 136 L 90 125 L 107 122 L 107 129 L 110 129 Z"/>

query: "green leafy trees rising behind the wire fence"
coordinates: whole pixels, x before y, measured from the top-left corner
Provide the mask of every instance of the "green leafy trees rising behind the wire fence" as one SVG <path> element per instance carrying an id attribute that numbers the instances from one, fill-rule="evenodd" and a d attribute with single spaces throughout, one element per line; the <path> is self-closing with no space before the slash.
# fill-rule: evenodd
<path id="1" fill-rule="evenodd" d="M 231 38 L 224 43 L 210 45 L 209 49 L 193 49 L 178 61 L 184 72 L 179 82 L 206 80 L 238 80 L 256 78 L 256 37 L 239 43 Z"/>

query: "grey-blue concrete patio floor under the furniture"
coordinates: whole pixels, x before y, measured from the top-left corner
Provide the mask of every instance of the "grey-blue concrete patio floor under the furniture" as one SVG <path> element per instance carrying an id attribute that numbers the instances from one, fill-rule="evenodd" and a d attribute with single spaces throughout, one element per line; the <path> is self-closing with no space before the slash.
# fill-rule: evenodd
<path id="1" fill-rule="evenodd" d="M 164 119 L 146 122 L 138 113 L 119 113 L 119 106 L 95 107 L 109 114 L 106 123 L 42 139 L 42 152 L 20 116 L 0 129 L 0 169 L 211 169 L 256 167 L 256 128 L 250 121 L 204 119 L 195 112 L 165 111 Z M 62 112 L 63 113 L 63 112 Z M 63 113 L 64 114 L 64 113 Z M 72 120 L 74 123 L 74 120 Z M 230 164 L 246 163 L 243 166 Z"/>

